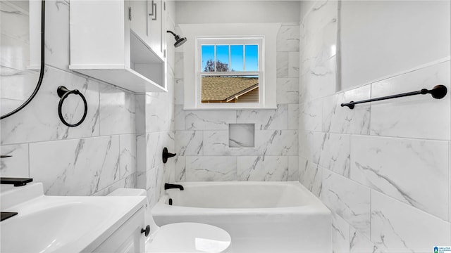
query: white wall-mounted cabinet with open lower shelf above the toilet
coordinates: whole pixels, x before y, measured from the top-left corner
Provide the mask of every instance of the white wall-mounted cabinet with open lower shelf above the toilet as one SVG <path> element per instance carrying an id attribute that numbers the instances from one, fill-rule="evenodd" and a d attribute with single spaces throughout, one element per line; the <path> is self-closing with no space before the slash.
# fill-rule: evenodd
<path id="1" fill-rule="evenodd" d="M 164 6 L 157 20 L 149 15 L 155 3 L 71 1 L 70 70 L 137 93 L 166 92 L 166 18 Z"/>

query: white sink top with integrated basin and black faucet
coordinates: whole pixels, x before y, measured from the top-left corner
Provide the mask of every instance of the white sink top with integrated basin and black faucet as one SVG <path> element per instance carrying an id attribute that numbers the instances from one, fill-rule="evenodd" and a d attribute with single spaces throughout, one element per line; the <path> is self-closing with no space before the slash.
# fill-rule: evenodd
<path id="1" fill-rule="evenodd" d="M 42 183 L 4 188 L 1 252 L 89 252 L 145 203 L 145 197 L 46 196 Z"/>

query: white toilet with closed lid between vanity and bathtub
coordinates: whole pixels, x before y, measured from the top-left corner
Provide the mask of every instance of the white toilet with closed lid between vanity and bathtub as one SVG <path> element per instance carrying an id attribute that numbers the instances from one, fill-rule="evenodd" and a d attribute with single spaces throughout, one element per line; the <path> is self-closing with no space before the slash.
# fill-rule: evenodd
<path id="1" fill-rule="evenodd" d="M 143 189 L 118 188 L 109 196 L 147 196 Z M 216 226 L 203 223 L 172 223 L 157 226 L 146 205 L 145 223 L 150 225 L 146 252 L 228 252 L 229 233 Z"/>

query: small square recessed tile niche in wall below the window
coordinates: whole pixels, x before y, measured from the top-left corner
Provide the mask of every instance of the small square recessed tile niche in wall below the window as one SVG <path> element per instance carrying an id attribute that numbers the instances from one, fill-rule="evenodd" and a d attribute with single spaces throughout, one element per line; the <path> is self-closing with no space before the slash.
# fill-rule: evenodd
<path id="1" fill-rule="evenodd" d="M 228 124 L 229 148 L 254 148 L 255 124 Z"/>

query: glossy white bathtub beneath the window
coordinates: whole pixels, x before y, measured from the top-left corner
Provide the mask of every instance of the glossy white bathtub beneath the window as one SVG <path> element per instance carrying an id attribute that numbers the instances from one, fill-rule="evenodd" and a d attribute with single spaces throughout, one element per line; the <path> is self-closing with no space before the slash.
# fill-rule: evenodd
<path id="1" fill-rule="evenodd" d="M 185 182 L 152 209 L 157 225 L 225 229 L 235 253 L 331 252 L 330 211 L 299 182 Z M 168 205 L 169 199 L 173 205 Z"/>

